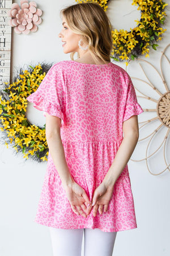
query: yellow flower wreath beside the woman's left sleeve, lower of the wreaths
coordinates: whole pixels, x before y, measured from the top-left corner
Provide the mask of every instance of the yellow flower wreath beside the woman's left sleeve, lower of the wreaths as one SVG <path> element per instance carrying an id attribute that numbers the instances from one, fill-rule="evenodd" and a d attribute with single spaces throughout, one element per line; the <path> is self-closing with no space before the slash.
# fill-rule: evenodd
<path id="1" fill-rule="evenodd" d="M 26 114 L 26 98 L 37 90 L 46 73 L 42 70 L 51 65 L 36 65 L 32 70 L 23 71 L 15 82 L 1 90 L 0 96 L 0 130 L 3 131 L 5 144 L 12 144 L 16 152 L 22 151 L 24 158 L 38 162 L 47 160 L 48 146 L 45 138 L 45 127 L 29 123 Z M 47 66 L 47 67 L 46 67 Z"/>

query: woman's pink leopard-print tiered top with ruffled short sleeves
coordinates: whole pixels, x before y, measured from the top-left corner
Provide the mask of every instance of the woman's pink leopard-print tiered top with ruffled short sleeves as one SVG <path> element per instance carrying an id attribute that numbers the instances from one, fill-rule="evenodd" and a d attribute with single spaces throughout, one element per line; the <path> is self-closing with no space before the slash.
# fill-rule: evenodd
<path id="1" fill-rule="evenodd" d="M 128 73 L 113 63 L 60 61 L 27 99 L 35 108 L 61 118 L 67 165 L 91 200 L 120 147 L 123 122 L 143 112 Z M 84 218 L 71 209 L 49 152 L 35 222 L 104 232 L 137 228 L 128 165 L 114 184 L 108 212 L 96 217 L 91 212 Z"/>

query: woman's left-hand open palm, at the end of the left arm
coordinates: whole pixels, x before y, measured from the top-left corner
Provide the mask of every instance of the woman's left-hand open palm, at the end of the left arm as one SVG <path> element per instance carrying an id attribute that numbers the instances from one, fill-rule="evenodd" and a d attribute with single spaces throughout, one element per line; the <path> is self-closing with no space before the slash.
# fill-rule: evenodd
<path id="1" fill-rule="evenodd" d="M 87 217 L 91 212 L 92 203 L 88 199 L 86 191 L 75 181 L 71 185 L 67 185 L 65 191 L 73 212 Z"/>

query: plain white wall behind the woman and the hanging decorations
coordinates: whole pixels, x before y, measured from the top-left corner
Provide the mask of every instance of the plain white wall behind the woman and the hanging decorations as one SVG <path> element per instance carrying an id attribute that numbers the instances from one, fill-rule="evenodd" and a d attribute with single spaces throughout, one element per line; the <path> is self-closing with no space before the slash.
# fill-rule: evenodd
<path id="1" fill-rule="evenodd" d="M 18 2 L 19 1 L 14 1 Z M 44 11 L 43 22 L 39 30 L 29 35 L 13 34 L 12 42 L 12 67 L 23 67 L 24 64 L 37 64 L 39 61 L 58 62 L 70 60 L 70 55 L 62 51 L 61 39 L 58 33 L 61 30 L 59 10 L 67 5 L 74 4 L 73 0 L 63 1 L 36 1 L 39 8 Z M 131 0 L 114 0 L 109 4 L 108 16 L 116 28 L 134 27 L 134 19 L 140 17 L 139 11 L 131 7 Z M 166 2 L 169 3 L 169 0 Z M 123 8 L 124 7 L 124 8 Z M 160 71 L 159 60 L 164 47 L 170 42 L 170 7 L 167 8 L 167 32 L 164 39 L 159 42 L 157 51 L 151 50 L 150 61 Z M 126 26 L 126 27 L 125 27 Z M 130 75 L 143 77 L 139 68 L 139 61 L 128 66 Z M 125 68 L 124 64 L 118 64 Z M 146 68 L 148 76 L 155 86 L 158 83 L 155 71 Z M 168 73 L 169 67 L 166 67 Z M 170 81 L 170 80 L 169 80 Z M 142 86 L 134 82 L 135 85 Z M 170 82 L 169 82 L 170 89 Z M 149 93 L 149 89 L 145 89 Z M 151 92 L 152 94 L 152 92 Z M 154 97 L 154 93 L 152 94 Z M 144 107 L 144 101 L 139 101 Z M 152 107 L 151 104 L 147 105 Z M 33 115 L 37 113 L 32 110 Z M 39 115 L 41 113 L 39 112 Z M 146 118 L 147 113 L 139 115 Z M 40 122 L 44 122 L 41 116 Z M 155 126 L 156 127 L 156 126 Z M 154 129 L 155 129 L 154 127 Z M 143 135 L 148 134 L 150 126 L 143 130 Z M 158 138 L 164 137 L 164 132 Z M 170 142 L 170 139 L 168 143 Z M 147 142 L 138 144 L 134 157 L 140 159 L 145 156 Z M 153 143 L 156 146 L 155 142 Z M 168 144 L 169 145 L 169 144 Z M 162 152 L 162 151 L 161 151 Z M 170 162 L 170 161 L 169 161 Z M 1 256 L 52 256 L 52 247 L 48 227 L 33 222 L 37 204 L 44 180 L 46 163 L 38 164 L 27 160 L 24 162 L 21 155 L 15 155 L 11 148 L 0 146 L 0 255 Z M 159 176 L 151 175 L 146 168 L 146 163 L 129 161 L 131 188 L 134 196 L 135 213 L 138 228 L 118 232 L 114 246 L 113 256 L 168 256 L 169 247 L 169 180 L 168 171 Z M 152 171 L 158 173 L 164 166 L 162 155 L 156 155 L 150 161 Z"/>

